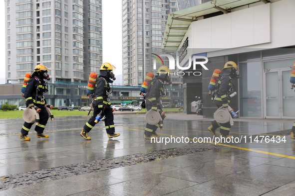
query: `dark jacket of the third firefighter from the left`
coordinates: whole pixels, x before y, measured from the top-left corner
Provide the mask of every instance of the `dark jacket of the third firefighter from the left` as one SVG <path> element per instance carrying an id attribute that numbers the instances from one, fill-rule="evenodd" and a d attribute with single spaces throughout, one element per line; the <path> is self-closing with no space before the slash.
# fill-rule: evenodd
<path id="1" fill-rule="evenodd" d="M 147 89 L 146 99 L 151 101 L 152 109 L 156 110 L 159 98 L 164 94 L 163 81 L 154 77 Z"/>

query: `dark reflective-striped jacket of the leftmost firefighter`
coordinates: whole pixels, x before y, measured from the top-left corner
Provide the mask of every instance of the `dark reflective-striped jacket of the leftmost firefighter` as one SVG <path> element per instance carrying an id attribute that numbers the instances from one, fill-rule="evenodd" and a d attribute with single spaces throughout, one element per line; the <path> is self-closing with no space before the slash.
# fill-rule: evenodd
<path id="1" fill-rule="evenodd" d="M 40 106 L 46 104 L 43 94 L 46 93 L 47 86 L 45 81 L 39 80 L 37 77 L 31 78 L 24 91 L 26 106 Z"/>

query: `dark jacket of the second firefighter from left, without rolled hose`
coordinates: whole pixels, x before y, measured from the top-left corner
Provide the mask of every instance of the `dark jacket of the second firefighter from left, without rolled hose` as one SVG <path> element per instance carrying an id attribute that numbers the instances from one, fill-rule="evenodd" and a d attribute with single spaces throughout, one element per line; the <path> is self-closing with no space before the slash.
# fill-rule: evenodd
<path id="1" fill-rule="evenodd" d="M 97 100 L 98 108 L 109 107 L 110 101 L 108 94 L 110 92 L 110 85 L 103 77 L 98 77 L 96 81 L 95 98 Z"/>

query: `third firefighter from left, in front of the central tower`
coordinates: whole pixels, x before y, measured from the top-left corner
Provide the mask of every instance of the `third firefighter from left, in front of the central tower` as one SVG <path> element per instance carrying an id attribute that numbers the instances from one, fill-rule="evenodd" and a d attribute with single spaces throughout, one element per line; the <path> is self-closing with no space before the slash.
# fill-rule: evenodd
<path id="1" fill-rule="evenodd" d="M 147 111 L 150 109 L 158 110 L 161 115 L 162 120 L 165 118 L 165 112 L 163 112 L 161 104 L 160 104 L 160 96 L 165 96 L 164 93 L 164 82 L 167 82 L 171 84 L 171 79 L 169 77 L 169 73 L 171 71 L 166 66 L 161 66 L 157 74 L 154 76 L 152 82 L 147 88 L 147 92 L 145 95 L 146 101 L 145 101 L 145 107 Z M 151 139 L 151 137 L 159 137 L 159 135 L 156 133 L 156 130 L 158 127 L 161 129 L 161 121 L 156 125 L 146 124 L 145 130 L 144 130 L 144 138 L 145 139 Z"/>

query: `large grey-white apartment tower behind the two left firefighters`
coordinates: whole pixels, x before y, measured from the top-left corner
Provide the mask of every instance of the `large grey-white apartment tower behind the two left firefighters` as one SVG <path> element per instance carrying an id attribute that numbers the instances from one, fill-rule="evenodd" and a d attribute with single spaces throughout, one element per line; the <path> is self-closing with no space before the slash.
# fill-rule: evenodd
<path id="1" fill-rule="evenodd" d="M 5 0 L 6 83 L 37 64 L 50 82 L 85 82 L 102 63 L 101 0 Z"/>

